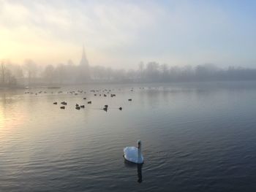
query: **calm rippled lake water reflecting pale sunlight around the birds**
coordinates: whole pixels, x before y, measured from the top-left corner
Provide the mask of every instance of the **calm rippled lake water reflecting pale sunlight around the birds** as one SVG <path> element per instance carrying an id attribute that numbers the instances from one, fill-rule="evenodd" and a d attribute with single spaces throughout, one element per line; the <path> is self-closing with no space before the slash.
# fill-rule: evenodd
<path id="1" fill-rule="evenodd" d="M 0 191 L 256 191 L 255 115 L 256 82 L 1 90 Z"/>

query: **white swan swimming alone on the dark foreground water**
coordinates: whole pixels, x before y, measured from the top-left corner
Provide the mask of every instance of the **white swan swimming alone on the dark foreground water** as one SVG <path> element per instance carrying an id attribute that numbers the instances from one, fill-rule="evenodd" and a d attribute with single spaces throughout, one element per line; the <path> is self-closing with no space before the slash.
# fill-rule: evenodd
<path id="1" fill-rule="evenodd" d="M 125 147 L 124 158 L 135 164 L 143 164 L 144 158 L 141 153 L 141 141 L 138 140 L 138 147 Z"/>

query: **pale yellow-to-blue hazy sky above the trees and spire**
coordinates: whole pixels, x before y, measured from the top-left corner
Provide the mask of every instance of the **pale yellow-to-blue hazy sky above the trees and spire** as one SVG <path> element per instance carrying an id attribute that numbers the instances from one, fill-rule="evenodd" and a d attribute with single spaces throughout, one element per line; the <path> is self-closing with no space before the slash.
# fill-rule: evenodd
<path id="1" fill-rule="evenodd" d="M 0 60 L 256 68 L 256 1 L 0 0 Z"/>

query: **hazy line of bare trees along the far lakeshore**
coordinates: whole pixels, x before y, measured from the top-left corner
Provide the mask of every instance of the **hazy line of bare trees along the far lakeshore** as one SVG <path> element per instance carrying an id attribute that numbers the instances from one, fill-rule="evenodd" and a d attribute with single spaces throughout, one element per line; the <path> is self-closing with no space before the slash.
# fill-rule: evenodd
<path id="1" fill-rule="evenodd" d="M 221 69 L 214 64 L 169 66 L 157 62 L 138 64 L 138 69 L 112 69 L 90 66 L 87 82 L 189 82 L 216 80 L 256 80 L 256 69 L 230 66 Z M 0 86 L 79 84 L 81 66 L 67 64 L 42 66 L 28 59 L 24 64 L 0 62 Z"/>

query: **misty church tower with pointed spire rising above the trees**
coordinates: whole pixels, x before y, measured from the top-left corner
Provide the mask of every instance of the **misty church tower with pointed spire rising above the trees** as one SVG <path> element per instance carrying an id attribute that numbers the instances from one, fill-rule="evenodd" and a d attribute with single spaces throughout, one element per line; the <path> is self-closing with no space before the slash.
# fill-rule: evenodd
<path id="1" fill-rule="evenodd" d="M 80 61 L 80 65 L 78 66 L 78 82 L 89 82 L 91 80 L 90 77 L 90 66 L 89 62 L 86 58 L 86 52 L 84 50 L 83 46 L 83 53 L 82 53 L 82 58 Z"/>

